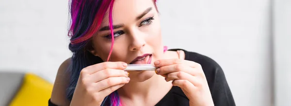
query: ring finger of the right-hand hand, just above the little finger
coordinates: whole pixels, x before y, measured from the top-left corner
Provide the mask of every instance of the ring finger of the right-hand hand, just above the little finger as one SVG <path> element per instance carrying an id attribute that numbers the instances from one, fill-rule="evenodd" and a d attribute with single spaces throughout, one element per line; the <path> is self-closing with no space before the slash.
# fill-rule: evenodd
<path id="1" fill-rule="evenodd" d="M 165 80 L 171 81 L 171 80 L 188 80 L 191 84 L 193 84 L 195 87 L 200 87 L 202 85 L 202 80 L 199 79 L 199 77 L 192 76 L 186 72 L 178 71 L 167 74 L 165 77 Z"/>

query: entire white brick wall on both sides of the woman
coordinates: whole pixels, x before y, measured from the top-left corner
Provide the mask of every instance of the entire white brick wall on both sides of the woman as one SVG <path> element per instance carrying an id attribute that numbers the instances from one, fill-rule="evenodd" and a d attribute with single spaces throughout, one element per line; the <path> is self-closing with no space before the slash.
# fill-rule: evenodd
<path id="1" fill-rule="evenodd" d="M 271 106 L 269 1 L 158 1 L 165 45 L 216 60 L 237 106 Z M 70 56 L 67 13 L 67 0 L 0 0 L 0 70 L 53 82 Z"/>

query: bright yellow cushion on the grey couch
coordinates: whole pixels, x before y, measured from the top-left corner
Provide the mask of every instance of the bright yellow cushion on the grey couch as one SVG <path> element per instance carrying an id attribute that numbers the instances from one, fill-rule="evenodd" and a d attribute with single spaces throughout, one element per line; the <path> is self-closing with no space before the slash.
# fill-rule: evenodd
<path id="1" fill-rule="evenodd" d="M 43 78 L 27 73 L 10 106 L 48 106 L 53 85 Z"/>

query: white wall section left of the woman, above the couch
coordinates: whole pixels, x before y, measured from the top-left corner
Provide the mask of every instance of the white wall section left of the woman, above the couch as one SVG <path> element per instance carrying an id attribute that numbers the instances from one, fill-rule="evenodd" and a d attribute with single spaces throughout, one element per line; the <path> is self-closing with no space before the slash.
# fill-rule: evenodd
<path id="1" fill-rule="evenodd" d="M 0 70 L 54 81 L 67 49 L 66 0 L 0 0 Z"/>

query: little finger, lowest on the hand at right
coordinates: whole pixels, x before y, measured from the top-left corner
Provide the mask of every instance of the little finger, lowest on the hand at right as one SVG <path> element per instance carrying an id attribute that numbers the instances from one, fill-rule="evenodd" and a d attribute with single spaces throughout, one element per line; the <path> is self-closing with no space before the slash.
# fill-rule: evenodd
<path id="1" fill-rule="evenodd" d="M 188 80 L 174 80 L 172 82 L 173 86 L 178 86 L 180 88 L 185 89 L 186 91 L 194 90 L 196 87 L 190 83 Z"/>

